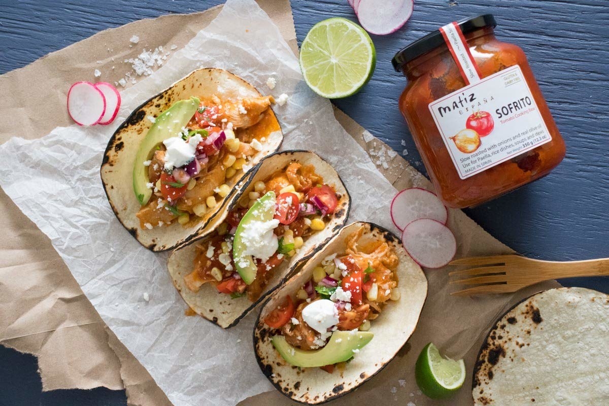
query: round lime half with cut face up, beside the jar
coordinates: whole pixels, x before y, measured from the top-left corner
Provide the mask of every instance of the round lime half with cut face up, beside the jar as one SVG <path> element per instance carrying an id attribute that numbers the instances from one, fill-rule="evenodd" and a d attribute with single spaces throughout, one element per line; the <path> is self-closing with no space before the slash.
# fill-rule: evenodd
<path id="1" fill-rule="evenodd" d="M 368 33 L 345 18 L 315 24 L 300 47 L 305 82 L 328 99 L 357 93 L 370 80 L 375 65 L 375 46 Z"/>

